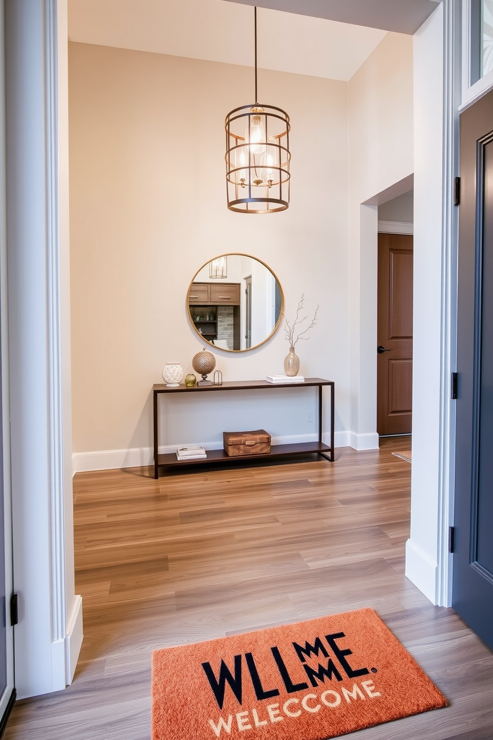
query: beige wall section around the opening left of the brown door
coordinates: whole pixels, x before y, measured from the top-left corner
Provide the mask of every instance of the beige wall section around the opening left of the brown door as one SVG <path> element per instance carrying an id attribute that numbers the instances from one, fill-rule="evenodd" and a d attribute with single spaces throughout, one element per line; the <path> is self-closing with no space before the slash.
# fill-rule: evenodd
<path id="1" fill-rule="evenodd" d="M 377 206 L 412 186 L 412 36 L 388 33 L 351 78 L 348 98 L 350 430 L 353 446 L 366 448 L 372 439 L 378 446 Z"/>

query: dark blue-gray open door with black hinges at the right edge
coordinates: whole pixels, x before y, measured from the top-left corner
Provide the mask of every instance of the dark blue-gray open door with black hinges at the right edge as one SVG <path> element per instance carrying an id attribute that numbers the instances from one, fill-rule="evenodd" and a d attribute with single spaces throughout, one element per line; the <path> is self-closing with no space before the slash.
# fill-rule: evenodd
<path id="1" fill-rule="evenodd" d="M 493 647 L 493 93 L 460 115 L 452 606 Z"/>

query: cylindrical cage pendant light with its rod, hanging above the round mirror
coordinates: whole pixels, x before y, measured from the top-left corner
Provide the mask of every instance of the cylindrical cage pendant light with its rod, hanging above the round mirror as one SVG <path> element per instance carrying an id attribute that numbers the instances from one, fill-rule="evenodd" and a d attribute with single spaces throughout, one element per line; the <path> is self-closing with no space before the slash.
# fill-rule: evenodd
<path id="1" fill-rule="evenodd" d="M 276 213 L 289 205 L 289 116 L 273 105 L 255 103 L 228 113 L 226 187 L 228 209 L 238 213 Z"/>

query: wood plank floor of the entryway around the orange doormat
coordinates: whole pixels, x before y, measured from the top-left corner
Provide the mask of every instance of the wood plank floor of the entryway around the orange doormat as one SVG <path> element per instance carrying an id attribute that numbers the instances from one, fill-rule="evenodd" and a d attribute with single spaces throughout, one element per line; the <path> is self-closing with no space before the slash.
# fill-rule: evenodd
<path id="1" fill-rule="evenodd" d="M 492 740 L 492 650 L 404 577 L 411 465 L 391 453 L 409 445 L 157 481 L 76 475 L 75 679 L 17 702 L 4 739 L 149 740 L 154 648 L 372 607 L 450 706 L 351 738 Z"/>

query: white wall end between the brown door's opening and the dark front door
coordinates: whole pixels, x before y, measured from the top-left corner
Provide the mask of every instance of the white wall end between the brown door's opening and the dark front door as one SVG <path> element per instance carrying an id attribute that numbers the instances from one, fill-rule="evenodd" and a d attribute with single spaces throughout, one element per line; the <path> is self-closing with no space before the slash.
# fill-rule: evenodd
<path id="1" fill-rule="evenodd" d="M 411 536 L 406 575 L 435 603 L 442 311 L 443 6 L 414 36 L 414 341 Z"/>

